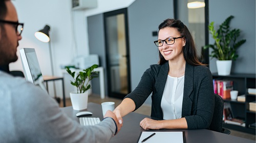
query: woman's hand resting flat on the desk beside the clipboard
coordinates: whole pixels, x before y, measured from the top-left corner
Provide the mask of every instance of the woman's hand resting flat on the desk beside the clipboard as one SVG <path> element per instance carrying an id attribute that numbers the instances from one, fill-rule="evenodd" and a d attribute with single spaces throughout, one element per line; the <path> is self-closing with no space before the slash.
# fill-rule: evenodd
<path id="1" fill-rule="evenodd" d="M 140 126 L 144 130 L 148 129 L 160 129 L 161 121 L 149 119 L 149 118 L 144 118 L 142 121 L 140 121 Z"/>

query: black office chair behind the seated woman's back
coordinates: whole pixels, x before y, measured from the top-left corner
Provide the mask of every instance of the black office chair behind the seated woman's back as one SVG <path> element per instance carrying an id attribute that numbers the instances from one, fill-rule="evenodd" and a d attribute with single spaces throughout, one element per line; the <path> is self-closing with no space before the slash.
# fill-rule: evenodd
<path id="1" fill-rule="evenodd" d="M 225 134 L 230 134 L 230 130 L 222 128 L 223 120 L 223 99 L 218 95 L 214 94 L 215 107 L 214 107 L 214 116 L 212 117 L 209 129 L 212 131 L 217 131 Z"/>

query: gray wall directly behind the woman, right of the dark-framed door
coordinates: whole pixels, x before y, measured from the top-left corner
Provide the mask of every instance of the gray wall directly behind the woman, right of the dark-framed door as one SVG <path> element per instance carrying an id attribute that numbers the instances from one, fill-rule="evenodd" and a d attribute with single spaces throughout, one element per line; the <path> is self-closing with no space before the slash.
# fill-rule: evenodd
<path id="1" fill-rule="evenodd" d="M 173 1 L 136 0 L 128 7 L 131 58 L 131 88 L 137 87 L 144 71 L 158 62 L 158 48 L 153 31 L 166 18 L 174 18 Z M 151 96 L 145 104 L 151 105 Z"/>

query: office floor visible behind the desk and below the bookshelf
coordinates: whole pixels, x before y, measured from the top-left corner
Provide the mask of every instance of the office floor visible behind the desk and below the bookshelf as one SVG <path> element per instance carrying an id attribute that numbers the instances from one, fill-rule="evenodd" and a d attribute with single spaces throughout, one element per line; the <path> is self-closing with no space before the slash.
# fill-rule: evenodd
<path id="1" fill-rule="evenodd" d="M 105 99 L 100 99 L 99 95 L 90 95 L 88 98 L 88 102 L 93 102 L 93 103 L 97 103 L 97 104 L 101 104 L 102 102 L 108 102 L 108 101 L 115 102 L 115 106 L 118 106 L 122 102 L 122 100 L 120 100 L 120 99 L 110 98 L 110 97 L 107 97 Z M 66 99 L 66 106 L 72 106 L 70 99 Z M 60 103 L 60 107 L 63 107 L 62 103 Z M 150 116 L 151 106 L 142 105 L 135 112 Z M 230 130 L 230 131 L 231 131 L 230 135 L 255 140 L 255 135 L 253 135 L 253 134 L 248 134 L 248 133 L 239 132 L 239 131 L 235 131 L 235 130 Z"/>

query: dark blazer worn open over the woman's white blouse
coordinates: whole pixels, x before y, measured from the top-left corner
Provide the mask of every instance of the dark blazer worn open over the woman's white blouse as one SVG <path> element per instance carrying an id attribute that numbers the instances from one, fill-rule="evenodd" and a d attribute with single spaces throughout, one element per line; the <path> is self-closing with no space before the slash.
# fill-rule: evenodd
<path id="1" fill-rule="evenodd" d="M 162 95 L 169 71 L 168 62 L 151 65 L 141 77 L 136 89 L 125 96 L 131 98 L 138 109 L 152 93 L 151 117 L 163 119 Z M 184 77 L 182 115 L 188 129 L 208 129 L 214 113 L 214 89 L 212 75 L 206 66 L 186 63 Z"/>

